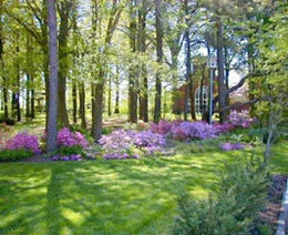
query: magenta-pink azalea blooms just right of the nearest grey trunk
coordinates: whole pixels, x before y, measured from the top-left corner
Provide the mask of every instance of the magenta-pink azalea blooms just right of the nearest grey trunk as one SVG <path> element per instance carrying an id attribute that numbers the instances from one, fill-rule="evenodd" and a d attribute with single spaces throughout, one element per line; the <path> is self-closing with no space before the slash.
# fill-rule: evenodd
<path id="1" fill-rule="evenodd" d="M 58 132 L 56 141 L 59 146 L 89 146 L 89 142 L 83 134 L 81 134 L 80 132 L 73 133 L 68 127 L 64 127 Z"/>

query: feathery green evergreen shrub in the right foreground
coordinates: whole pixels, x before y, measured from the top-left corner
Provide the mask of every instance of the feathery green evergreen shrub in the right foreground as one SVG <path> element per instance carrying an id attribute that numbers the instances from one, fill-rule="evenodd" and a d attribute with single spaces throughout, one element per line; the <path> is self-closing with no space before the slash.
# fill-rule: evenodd
<path id="1" fill-rule="evenodd" d="M 267 183 L 267 171 L 259 163 L 226 164 L 217 194 L 203 201 L 187 193 L 178 196 L 174 234 L 247 234 L 265 205 Z"/>

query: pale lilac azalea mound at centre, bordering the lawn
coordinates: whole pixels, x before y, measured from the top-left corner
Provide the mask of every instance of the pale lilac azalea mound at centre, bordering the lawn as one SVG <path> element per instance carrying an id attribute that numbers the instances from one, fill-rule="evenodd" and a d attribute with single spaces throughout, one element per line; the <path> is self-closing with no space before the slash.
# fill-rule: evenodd
<path id="1" fill-rule="evenodd" d="M 105 150 L 104 159 L 137 159 L 133 149 L 144 147 L 148 153 L 165 146 L 165 137 L 152 131 L 125 131 L 119 129 L 109 135 L 103 135 L 99 143 Z"/>

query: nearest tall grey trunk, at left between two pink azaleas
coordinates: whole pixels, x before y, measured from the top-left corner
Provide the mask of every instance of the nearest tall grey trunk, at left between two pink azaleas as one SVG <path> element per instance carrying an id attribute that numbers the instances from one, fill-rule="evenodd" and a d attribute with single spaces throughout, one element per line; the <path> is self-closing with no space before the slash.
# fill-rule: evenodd
<path id="1" fill-rule="evenodd" d="M 50 90 L 49 90 L 49 116 L 47 151 L 54 152 L 56 145 L 58 126 L 58 30 L 55 0 L 48 0 L 48 24 L 49 24 L 49 64 L 50 64 Z M 48 92 L 48 91 L 47 91 Z"/>

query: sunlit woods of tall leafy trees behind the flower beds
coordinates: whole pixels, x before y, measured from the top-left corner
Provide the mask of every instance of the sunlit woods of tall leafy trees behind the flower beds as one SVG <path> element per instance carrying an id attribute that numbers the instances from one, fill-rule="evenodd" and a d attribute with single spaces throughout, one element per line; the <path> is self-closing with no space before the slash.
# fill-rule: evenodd
<path id="1" fill-rule="evenodd" d="M 287 1 L 56 1 L 58 94 L 51 96 L 47 2 L 1 0 L 1 119 L 44 112 L 49 125 L 58 96 L 58 125 L 89 124 L 95 141 L 106 114 L 158 122 L 174 110 L 196 120 L 208 109 L 208 55 L 217 57 L 213 109 L 220 122 L 235 108 L 229 94 L 244 84 L 249 100 L 237 108 L 248 103 L 265 119 L 277 103 L 287 114 Z"/>

